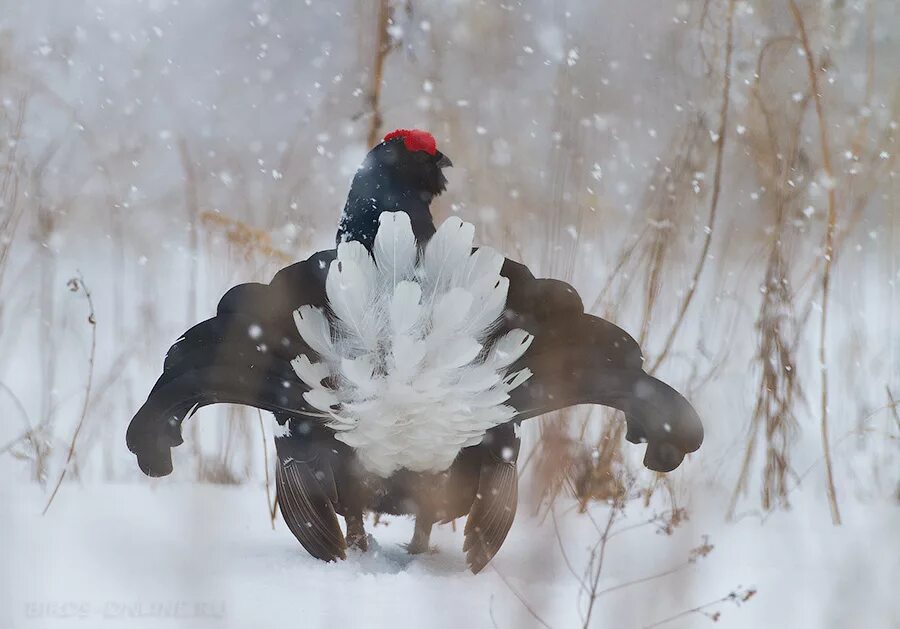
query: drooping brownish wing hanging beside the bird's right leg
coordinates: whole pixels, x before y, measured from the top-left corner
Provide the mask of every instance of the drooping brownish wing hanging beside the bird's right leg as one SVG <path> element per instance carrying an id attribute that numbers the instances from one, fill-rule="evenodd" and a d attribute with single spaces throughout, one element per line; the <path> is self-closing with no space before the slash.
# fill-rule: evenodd
<path id="1" fill-rule="evenodd" d="M 480 449 L 478 491 L 466 519 L 463 543 L 466 563 L 475 574 L 481 572 L 500 550 L 516 517 L 519 438 L 514 425 L 503 424 L 488 431 Z"/>

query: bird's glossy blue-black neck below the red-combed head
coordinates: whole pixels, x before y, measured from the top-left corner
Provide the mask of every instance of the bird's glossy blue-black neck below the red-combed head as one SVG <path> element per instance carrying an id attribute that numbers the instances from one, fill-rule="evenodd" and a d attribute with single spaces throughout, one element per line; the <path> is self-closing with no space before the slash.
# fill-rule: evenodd
<path id="1" fill-rule="evenodd" d="M 378 233 L 378 217 L 382 212 L 406 212 L 419 243 L 434 235 L 431 200 L 434 195 L 424 190 L 400 186 L 388 175 L 366 169 L 353 179 L 344 213 L 337 232 L 337 242 L 356 240 L 370 251 Z"/>

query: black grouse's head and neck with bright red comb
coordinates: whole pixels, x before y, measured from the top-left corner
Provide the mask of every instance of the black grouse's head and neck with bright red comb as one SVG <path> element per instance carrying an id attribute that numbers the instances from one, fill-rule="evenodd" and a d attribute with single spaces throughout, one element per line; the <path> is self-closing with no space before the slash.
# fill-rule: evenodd
<path id="1" fill-rule="evenodd" d="M 371 249 L 382 212 L 409 214 L 416 238 L 434 233 L 431 200 L 447 188 L 442 169 L 453 164 L 434 136 L 418 129 L 397 129 L 369 151 L 356 172 L 341 216 L 337 241 L 356 240 Z"/>

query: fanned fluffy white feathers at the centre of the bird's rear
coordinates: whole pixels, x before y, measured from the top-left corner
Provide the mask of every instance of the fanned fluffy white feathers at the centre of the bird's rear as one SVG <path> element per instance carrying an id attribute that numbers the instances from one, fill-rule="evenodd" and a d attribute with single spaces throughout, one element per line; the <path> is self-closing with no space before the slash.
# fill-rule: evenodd
<path id="1" fill-rule="evenodd" d="M 474 227 L 449 218 L 419 254 L 409 216 L 379 218 L 373 255 L 342 242 L 325 290 L 334 316 L 303 306 L 297 330 L 320 362 L 298 356 L 304 398 L 369 471 L 438 472 L 461 448 L 509 420 L 509 392 L 531 375 L 509 372 L 532 337 L 512 330 L 484 347 L 503 313 L 503 257 L 472 253 Z"/>

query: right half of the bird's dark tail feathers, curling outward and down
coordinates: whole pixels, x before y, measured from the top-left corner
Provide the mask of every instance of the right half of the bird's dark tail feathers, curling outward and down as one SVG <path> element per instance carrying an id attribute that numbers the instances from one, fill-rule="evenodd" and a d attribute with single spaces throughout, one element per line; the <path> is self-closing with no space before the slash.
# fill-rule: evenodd
<path id="1" fill-rule="evenodd" d="M 522 328 L 534 341 L 512 369 L 534 375 L 512 391 L 515 421 L 578 404 L 602 404 L 625 413 L 626 439 L 647 443 L 644 465 L 668 472 L 700 447 L 703 426 L 690 403 L 643 370 L 637 342 L 621 328 L 584 312 L 581 297 L 565 282 L 535 279 L 507 260 L 504 324 L 498 334 Z"/>

